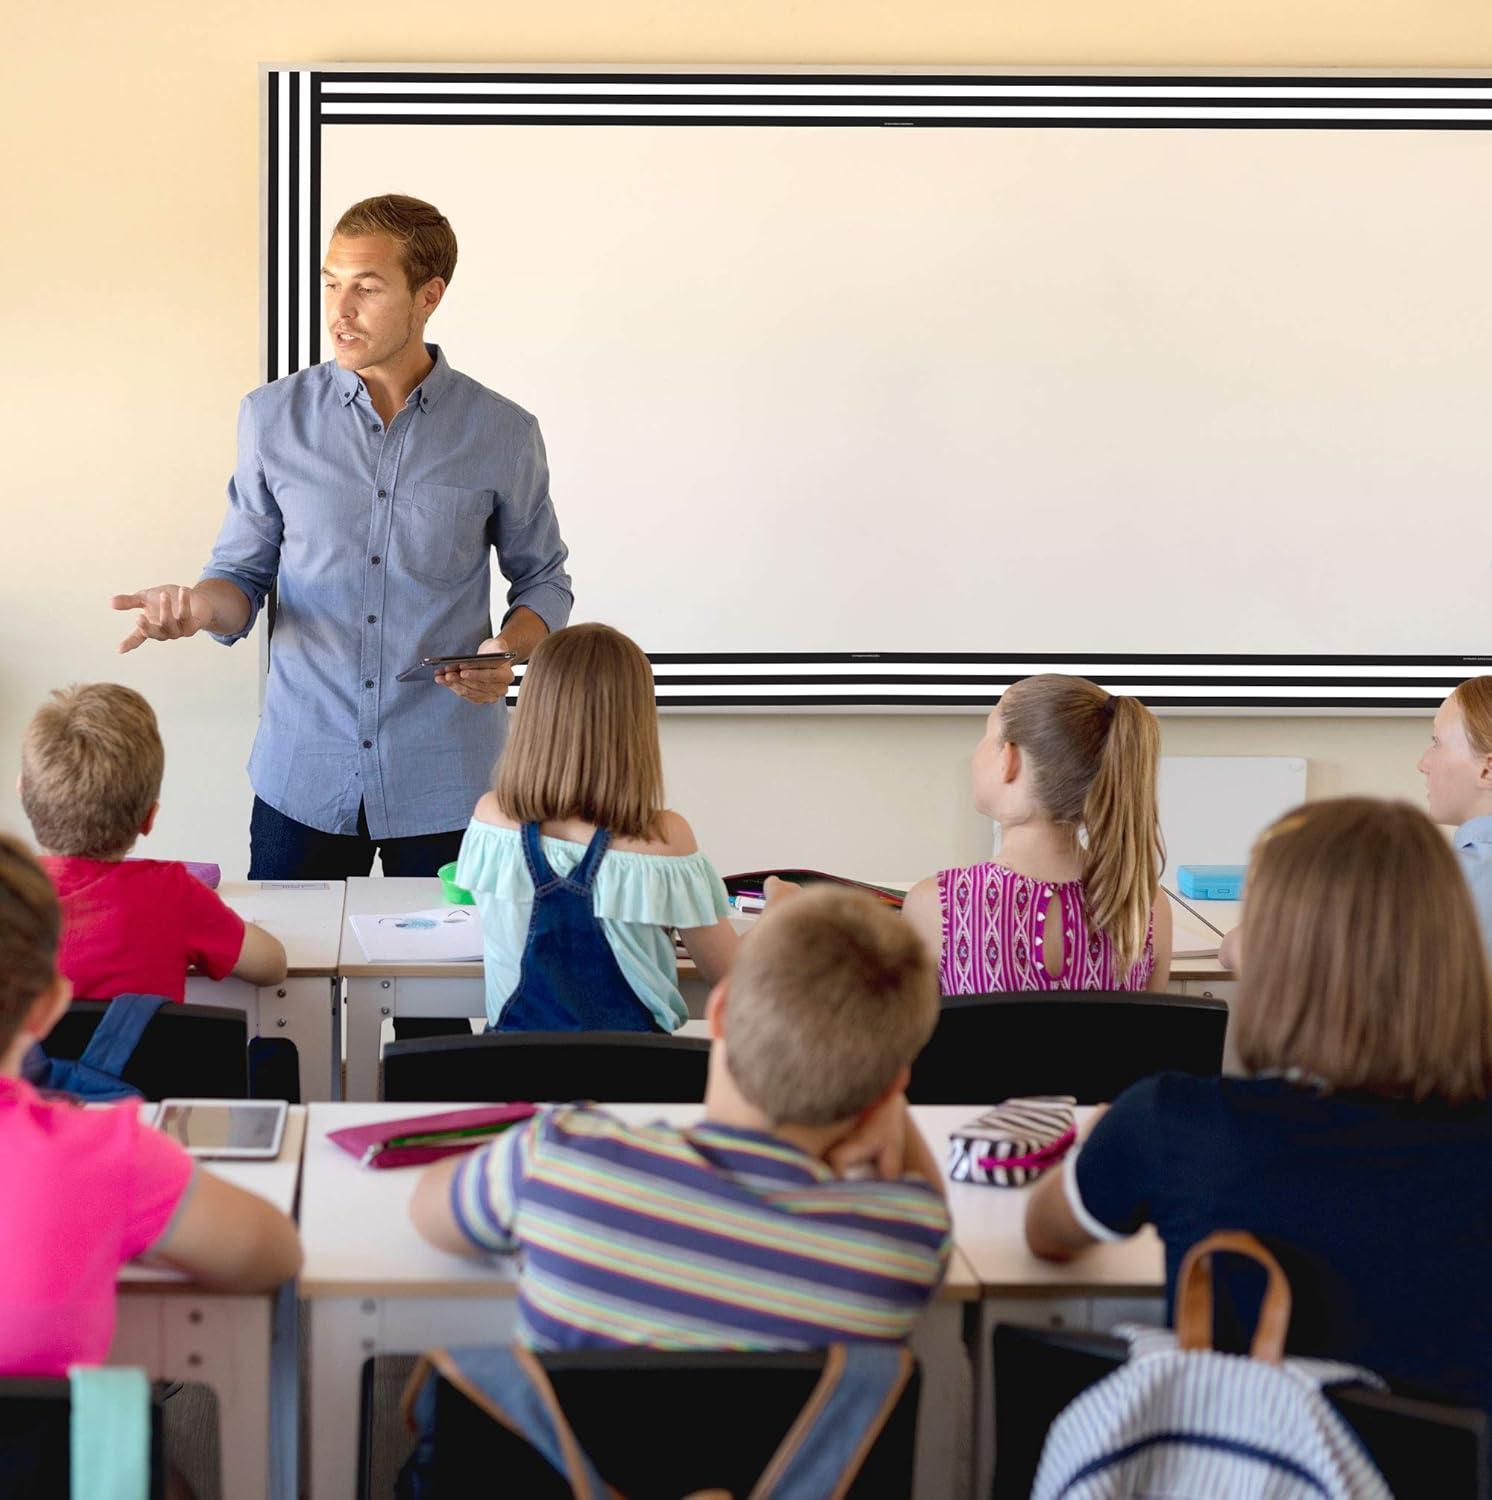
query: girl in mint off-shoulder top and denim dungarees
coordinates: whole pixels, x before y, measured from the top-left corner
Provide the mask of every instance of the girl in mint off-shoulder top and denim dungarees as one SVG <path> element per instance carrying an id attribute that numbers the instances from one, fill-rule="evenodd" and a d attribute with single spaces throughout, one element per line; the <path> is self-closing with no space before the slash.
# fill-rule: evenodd
<path id="1" fill-rule="evenodd" d="M 607 626 L 547 636 L 456 879 L 483 928 L 499 1030 L 676 1030 L 672 930 L 715 982 L 735 958 L 726 888 L 663 808 L 648 658 Z"/>

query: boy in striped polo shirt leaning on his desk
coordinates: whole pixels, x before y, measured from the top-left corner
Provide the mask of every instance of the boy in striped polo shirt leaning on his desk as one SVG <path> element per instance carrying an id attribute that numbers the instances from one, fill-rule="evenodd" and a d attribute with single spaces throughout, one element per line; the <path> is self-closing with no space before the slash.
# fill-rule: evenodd
<path id="1" fill-rule="evenodd" d="M 457 1254 L 522 1251 L 519 1338 L 535 1348 L 901 1341 L 949 1252 L 942 1173 L 903 1092 L 937 1004 L 895 915 L 805 891 L 709 998 L 700 1124 L 546 1112 L 429 1168 L 414 1222 Z"/>

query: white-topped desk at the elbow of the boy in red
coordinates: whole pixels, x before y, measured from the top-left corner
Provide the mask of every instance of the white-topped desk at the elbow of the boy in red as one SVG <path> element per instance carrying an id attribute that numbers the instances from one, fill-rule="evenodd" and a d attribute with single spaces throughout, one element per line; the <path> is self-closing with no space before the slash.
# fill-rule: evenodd
<path id="1" fill-rule="evenodd" d="M 193 975 L 186 998 L 231 1005 L 249 1017 L 249 1034 L 285 1036 L 300 1054 L 300 1095 L 342 1098 L 342 880 L 225 880 L 217 894 L 247 921 L 285 945 L 289 975 L 255 987 L 244 980 L 213 982 Z"/>

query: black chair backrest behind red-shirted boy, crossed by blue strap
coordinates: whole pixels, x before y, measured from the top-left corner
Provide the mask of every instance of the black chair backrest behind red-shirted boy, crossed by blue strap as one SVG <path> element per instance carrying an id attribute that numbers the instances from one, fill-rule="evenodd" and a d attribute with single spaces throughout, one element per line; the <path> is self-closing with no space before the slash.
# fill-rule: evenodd
<path id="1" fill-rule="evenodd" d="M 73 1000 L 42 1042 L 49 1058 L 81 1058 L 108 1000 Z M 219 1005 L 162 1005 L 151 1017 L 124 1082 L 147 1100 L 243 1100 L 249 1095 L 249 1023 Z"/>

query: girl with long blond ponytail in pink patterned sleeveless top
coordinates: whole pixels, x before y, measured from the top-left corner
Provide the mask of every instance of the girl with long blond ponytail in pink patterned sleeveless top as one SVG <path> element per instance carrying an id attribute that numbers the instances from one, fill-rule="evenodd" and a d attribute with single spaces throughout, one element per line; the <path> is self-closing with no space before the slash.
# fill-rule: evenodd
<path id="1" fill-rule="evenodd" d="M 943 994 L 1165 988 L 1159 756 L 1137 698 L 1054 672 L 1005 690 L 969 765 L 1000 855 L 918 882 L 903 908 Z"/>

